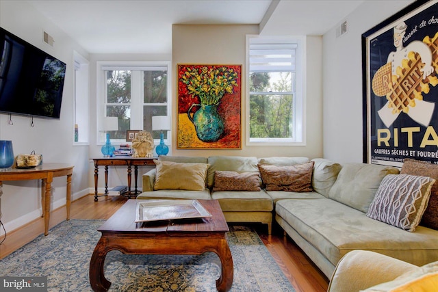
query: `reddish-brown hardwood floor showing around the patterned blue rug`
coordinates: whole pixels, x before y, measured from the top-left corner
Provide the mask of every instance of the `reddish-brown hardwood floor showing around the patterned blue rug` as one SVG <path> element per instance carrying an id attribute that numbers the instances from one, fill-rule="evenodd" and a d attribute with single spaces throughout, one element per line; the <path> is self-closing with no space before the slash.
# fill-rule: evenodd
<path id="1" fill-rule="evenodd" d="M 107 219 L 128 200 L 122 196 L 100 197 L 94 202 L 94 196 L 89 195 L 71 204 L 71 219 Z M 51 212 L 49 228 L 59 224 L 66 218 L 65 207 Z M 268 235 L 266 226 L 254 224 L 263 243 L 272 257 L 279 264 L 297 292 L 322 292 L 329 286 L 329 280 L 313 265 L 310 259 L 298 248 L 289 237 L 283 237 L 283 230 L 278 226 L 272 228 L 272 235 Z M 14 252 L 38 235 L 44 233 L 42 218 L 30 222 L 7 234 L 5 241 L 0 245 L 0 259 Z M 0 237 L 0 241 L 3 237 Z"/>

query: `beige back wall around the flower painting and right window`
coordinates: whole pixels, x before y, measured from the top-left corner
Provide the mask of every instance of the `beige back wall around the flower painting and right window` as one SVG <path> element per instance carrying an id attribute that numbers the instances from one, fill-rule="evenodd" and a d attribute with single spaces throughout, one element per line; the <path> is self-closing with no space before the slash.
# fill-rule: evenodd
<path id="1" fill-rule="evenodd" d="M 259 25 L 173 25 L 172 83 L 173 155 L 203 156 L 305 156 L 322 157 L 322 38 L 307 37 L 306 145 L 305 146 L 246 146 L 246 35 L 259 34 Z M 177 64 L 242 64 L 242 149 L 183 150 L 177 149 Z"/>

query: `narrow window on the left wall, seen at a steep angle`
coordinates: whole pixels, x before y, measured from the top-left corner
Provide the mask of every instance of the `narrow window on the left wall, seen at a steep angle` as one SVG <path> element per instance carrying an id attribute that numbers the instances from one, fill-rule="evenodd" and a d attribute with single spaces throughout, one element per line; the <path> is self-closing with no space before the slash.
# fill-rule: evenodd
<path id="1" fill-rule="evenodd" d="M 73 52 L 75 61 L 75 98 L 73 110 L 75 111 L 75 124 L 73 127 L 74 145 L 88 145 L 90 142 L 89 132 L 89 79 L 90 66 L 87 59 Z"/>

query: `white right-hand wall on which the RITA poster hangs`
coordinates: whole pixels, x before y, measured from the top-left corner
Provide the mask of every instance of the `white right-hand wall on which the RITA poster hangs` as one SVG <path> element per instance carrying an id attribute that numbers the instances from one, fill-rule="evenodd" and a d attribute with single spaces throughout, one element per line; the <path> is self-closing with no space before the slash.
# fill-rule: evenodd
<path id="1" fill-rule="evenodd" d="M 361 35 L 412 2 L 364 1 L 345 18 L 347 34 L 336 38 L 335 28 L 324 34 L 324 157 L 339 162 L 363 161 Z"/>

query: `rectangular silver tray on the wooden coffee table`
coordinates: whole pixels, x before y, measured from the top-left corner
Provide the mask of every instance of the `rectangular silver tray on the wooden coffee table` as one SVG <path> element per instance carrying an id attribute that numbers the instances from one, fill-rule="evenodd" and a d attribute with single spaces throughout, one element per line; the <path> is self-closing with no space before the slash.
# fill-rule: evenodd
<path id="1" fill-rule="evenodd" d="M 136 222 L 211 217 L 198 200 L 150 200 L 138 202 Z"/>

